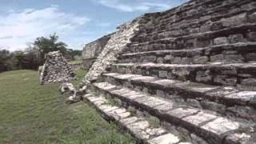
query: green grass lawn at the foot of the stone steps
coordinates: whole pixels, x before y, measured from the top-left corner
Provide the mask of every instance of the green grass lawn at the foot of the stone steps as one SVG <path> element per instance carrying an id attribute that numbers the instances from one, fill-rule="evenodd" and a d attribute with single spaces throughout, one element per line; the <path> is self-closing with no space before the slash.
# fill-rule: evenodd
<path id="1" fill-rule="evenodd" d="M 84 73 L 79 70 L 78 78 Z M 91 106 L 64 101 L 58 84 L 39 85 L 37 71 L 1 73 L 0 143 L 134 143 Z"/>

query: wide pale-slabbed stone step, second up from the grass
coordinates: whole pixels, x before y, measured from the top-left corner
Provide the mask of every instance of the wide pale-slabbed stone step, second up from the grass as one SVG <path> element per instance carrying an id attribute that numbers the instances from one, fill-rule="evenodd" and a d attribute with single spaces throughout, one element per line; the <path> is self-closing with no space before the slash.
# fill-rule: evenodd
<path id="1" fill-rule="evenodd" d="M 172 125 L 182 126 L 190 133 L 197 134 L 212 144 L 250 143 L 254 142 L 253 138 L 256 138 L 255 123 L 235 122 L 210 111 L 190 106 L 175 106 L 173 102 L 150 97 L 126 88 L 120 89 L 107 82 L 94 83 L 94 86 L 101 94 L 110 94 L 115 98 L 120 98 L 127 105 L 145 110 Z"/>

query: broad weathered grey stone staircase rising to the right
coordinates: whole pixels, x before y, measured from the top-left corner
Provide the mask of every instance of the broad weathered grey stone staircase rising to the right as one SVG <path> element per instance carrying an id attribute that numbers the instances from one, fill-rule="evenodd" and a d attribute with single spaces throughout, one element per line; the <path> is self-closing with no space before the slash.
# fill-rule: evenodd
<path id="1" fill-rule="evenodd" d="M 87 101 L 138 142 L 256 143 L 255 1 L 194 0 L 139 29 Z"/>

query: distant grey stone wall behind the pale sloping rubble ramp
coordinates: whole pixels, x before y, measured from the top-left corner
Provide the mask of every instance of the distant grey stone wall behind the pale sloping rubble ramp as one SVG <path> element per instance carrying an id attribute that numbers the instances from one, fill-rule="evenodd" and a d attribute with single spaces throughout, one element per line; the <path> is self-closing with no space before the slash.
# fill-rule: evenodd
<path id="1" fill-rule="evenodd" d="M 90 69 L 90 66 L 95 62 L 98 55 L 102 52 L 106 43 L 110 40 L 113 34 L 108 34 L 94 42 L 86 44 L 82 51 L 82 62 L 85 69 Z"/>

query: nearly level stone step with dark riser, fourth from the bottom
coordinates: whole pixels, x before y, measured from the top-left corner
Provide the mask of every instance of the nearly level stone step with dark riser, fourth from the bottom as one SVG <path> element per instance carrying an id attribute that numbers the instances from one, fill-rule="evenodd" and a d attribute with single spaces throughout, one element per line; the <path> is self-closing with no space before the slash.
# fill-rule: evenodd
<path id="1" fill-rule="evenodd" d="M 117 63 L 111 71 L 121 74 L 142 74 L 156 78 L 202 82 L 215 86 L 239 86 L 255 90 L 256 63 L 221 62 L 209 64 Z"/>

